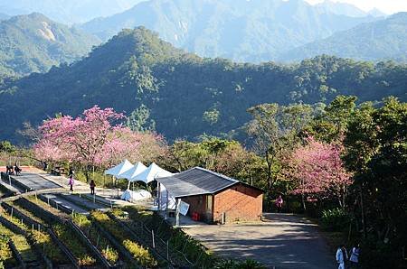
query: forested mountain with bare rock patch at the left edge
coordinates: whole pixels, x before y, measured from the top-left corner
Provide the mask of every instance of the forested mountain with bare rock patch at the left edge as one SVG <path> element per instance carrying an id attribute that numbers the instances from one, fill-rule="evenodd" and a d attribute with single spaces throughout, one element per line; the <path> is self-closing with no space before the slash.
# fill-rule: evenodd
<path id="1" fill-rule="evenodd" d="M 96 44 L 97 37 L 43 14 L 14 16 L 0 22 L 0 77 L 45 72 L 80 59 Z"/>

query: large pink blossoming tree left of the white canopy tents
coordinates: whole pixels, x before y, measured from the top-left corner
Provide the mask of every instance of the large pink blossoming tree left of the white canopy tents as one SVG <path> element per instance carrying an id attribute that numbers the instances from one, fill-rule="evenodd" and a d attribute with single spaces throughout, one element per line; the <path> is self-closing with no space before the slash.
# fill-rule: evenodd
<path id="1" fill-rule="evenodd" d="M 117 124 L 123 118 L 112 108 L 95 106 L 76 118 L 59 116 L 44 121 L 34 153 L 40 160 L 79 163 L 86 168 L 88 180 L 90 168 L 104 167 L 137 153 L 137 136 Z"/>

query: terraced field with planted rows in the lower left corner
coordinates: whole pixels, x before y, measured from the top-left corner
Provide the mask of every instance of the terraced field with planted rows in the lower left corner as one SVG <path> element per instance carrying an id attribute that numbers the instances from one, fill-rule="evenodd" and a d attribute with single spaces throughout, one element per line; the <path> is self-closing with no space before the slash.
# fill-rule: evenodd
<path id="1" fill-rule="evenodd" d="M 0 262 L 5 268 L 213 267 L 204 246 L 152 211 L 32 190 L 34 181 L 46 181 L 33 175 L 25 179 L 28 187 L 14 181 L 12 187 L 21 194 L 0 196 Z M 52 183 L 42 185 L 54 189 Z"/>

